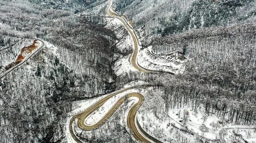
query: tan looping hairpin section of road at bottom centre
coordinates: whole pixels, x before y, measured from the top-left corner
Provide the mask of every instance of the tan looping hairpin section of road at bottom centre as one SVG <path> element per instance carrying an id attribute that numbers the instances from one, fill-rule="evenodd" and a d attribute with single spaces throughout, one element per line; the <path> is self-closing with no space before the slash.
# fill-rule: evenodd
<path id="1" fill-rule="evenodd" d="M 123 89 L 121 91 L 118 91 L 117 93 L 110 94 L 110 95 L 104 97 L 103 99 L 101 99 L 100 101 L 96 102 L 95 104 L 91 105 L 86 110 L 84 110 L 81 113 L 75 115 L 69 123 L 69 130 L 71 131 L 71 135 L 75 139 L 75 141 L 81 143 L 81 141 L 73 133 L 73 127 L 72 127 L 73 124 L 72 123 L 75 120 L 75 118 L 78 119 L 78 127 L 80 129 L 93 130 L 93 129 L 99 128 L 101 125 L 103 125 L 105 123 L 106 120 L 108 120 L 115 113 L 115 111 L 120 107 L 120 105 L 126 100 L 125 96 L 121 97 L 115 103 L 115 105 L 108 111 L 108 113 L 106 113 L 106 115 L 104 115 L 104 117 L 102 119 L 100 119 L 99 122 L 97 122 L 95 124 L 92 124 L 92 125 L 88 125 L 88 124 L 85 123 L 85 119 L 91 113 L 93 113 L 95 110 L 97 110 L 100 106 L 102 106 L 112 96 L 114 96 L 118 93 L 122 93 L 123 91 L 126 91 L 128 89 L 132 89 L 132 88 L 135 88 L 135 87 L 129 87 L 129 88 Z M 144 101 L 144 96 L 142 94 L 139 94 L 139 93 L 129 93 L 127 95 L 127 97 L 128 98 L 129 97 L 137 97 L 139 99 L 139 101 L 132 106 L 132 108 L 130 109 L 130 111 L 128 113 L 128 116 L 127 116 L 128 127 L 133 130 L 133 133 L 134 133 L 133 136 L 138 141 L 145 142 L 145 143 L 151 143 L 152 141 L 150 139 L 146 138 L 144 135 L 142 135 L 140 133 L 140 131 L 136 128 L 136 125 L 135 125 L 135 123 L 136 123 L 135 122 L 136 113 L 137 113 L 137 110 L 139 109 L 139 107 L 141 106 L 142 102 Z"/>

